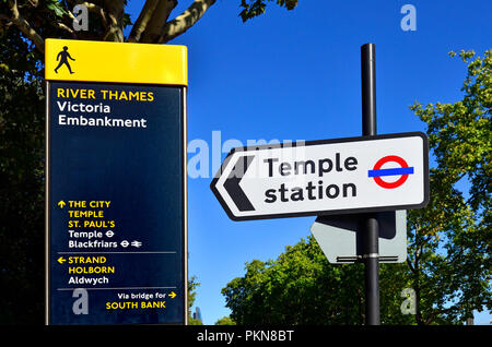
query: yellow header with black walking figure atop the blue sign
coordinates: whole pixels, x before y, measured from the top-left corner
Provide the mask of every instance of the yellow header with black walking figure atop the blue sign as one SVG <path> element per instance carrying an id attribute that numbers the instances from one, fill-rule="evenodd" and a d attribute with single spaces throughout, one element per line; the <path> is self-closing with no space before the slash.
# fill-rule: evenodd
<path id="1" fill-rule="evenodd" d="M 46 39 L 45 77 L 188 85 L 186 46 Z"/>

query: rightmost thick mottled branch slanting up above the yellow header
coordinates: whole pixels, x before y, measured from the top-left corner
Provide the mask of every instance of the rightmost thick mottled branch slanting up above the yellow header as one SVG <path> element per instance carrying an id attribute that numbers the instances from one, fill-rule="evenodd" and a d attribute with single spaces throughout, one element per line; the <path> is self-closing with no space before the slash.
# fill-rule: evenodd
<path id="1" fill-rule="evenodd" d="M 157 44 L 165 44 L 185 33 L 194 26 L 195 23 L 201 19 L 203 13 L 206 13 L 206 11 L 214 3 L 215 0 L 195 0 L 185 12 L 164 25 L 163 32 L 157 39 Z"/>

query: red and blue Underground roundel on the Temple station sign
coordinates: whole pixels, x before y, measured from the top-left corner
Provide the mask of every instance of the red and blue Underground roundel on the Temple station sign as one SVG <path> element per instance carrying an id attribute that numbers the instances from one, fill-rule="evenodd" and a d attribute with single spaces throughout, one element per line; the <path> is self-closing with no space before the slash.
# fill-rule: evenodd
<path id="1" fill-rule="evenodd" d="M 382 169 L 383 165 L 386 163 L 397 163 L 400 167 Z M 409 167 L 407 161 L 397 155 L 388 155 L 380 158 L 377 160 L 376 165 L 374 165 L 374 168 L 367 172 L 367 176 L 374 178 L 377 186 L 385 189 L 395 189 L 400 187 L 407 181 L 409 175 L 413 175 L 413 167 Z M 400 178 L 395 182 L 386 182 L 382 179 L 384 176 L 400 176 Z"/>

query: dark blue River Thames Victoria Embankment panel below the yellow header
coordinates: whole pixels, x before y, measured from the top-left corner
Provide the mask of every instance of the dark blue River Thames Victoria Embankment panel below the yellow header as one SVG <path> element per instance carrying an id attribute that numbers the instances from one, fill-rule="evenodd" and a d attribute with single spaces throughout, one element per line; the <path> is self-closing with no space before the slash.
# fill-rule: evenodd
<path id="1" fill-rule="evenodd" d="M 184 87 L 48 83 L 48 323 L 184 324 Z"/>

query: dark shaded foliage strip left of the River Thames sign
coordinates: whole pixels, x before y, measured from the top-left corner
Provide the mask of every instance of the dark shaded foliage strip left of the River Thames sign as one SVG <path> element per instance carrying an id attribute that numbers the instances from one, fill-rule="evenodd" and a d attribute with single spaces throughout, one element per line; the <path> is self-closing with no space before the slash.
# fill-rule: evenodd
<path id="1" fill-rule="evenodd" d="M 37 52 L 0 41 L 0 323 L 43 322 L 45 97 Z"/>

